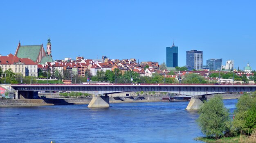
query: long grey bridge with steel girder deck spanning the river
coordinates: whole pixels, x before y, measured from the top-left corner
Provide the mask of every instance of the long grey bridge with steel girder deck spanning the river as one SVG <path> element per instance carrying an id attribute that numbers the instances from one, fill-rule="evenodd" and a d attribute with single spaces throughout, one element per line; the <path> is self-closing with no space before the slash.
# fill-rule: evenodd
<path id="1" fill-rule="evenodd" d="M 16 98 L 18 98 L 19 95 L 33 97 L 37 91 L 82 91 L 83 93 L 90 93 L 92 95 L 106 95 L 106 97 L 111 93 L 156 91 L 197 97 L 193 98 L 196 99 L 195 104 L 202 102 L 202 100 L 205 99 L 204 96 L 209 94 L 256 91 L 256 85 L 213 84 L 12 84 L 11 87 L 16 90 Z M 203 98 L 198 98 L 199 96 L 201 97 L 201 95 Z M 99 97 L 101 96 L 97 96 L 95 99 Z M 191 99 L 191 101 L 193 99 Z M 109 101 L 104 102 L 108 102 L 109 106 Z"/>

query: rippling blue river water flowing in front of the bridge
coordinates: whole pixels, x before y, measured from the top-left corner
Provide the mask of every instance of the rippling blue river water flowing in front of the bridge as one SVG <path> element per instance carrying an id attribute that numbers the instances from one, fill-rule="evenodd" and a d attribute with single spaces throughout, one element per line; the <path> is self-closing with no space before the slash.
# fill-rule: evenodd
<path id="1" fill-rule="evenodd" d="M 223 100 L 232 113 L 237 100 Z M 189 102 L 0 108 L 0 143 L 192 143 L 203 136 Z"/>

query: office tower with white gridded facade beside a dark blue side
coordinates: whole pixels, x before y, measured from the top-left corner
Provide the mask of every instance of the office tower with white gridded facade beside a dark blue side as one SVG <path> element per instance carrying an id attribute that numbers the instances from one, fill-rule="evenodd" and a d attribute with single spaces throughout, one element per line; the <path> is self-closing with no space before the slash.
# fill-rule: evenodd
<path id="1" fill-rule="evenodd" d="M 186 51 L 186 65 L 191 66 L 189 70 L 203 69 L 203 51 Z"/>

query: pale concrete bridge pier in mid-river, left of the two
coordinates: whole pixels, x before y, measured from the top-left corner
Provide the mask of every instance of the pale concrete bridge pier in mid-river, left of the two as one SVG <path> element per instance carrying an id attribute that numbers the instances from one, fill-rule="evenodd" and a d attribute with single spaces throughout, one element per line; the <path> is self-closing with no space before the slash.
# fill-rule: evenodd
<path id="1" fill-rule="evenodd" d="M 108 108 L 109 107 L 109 97 L 106 96 L 93 96 L 89 108 Z"/>

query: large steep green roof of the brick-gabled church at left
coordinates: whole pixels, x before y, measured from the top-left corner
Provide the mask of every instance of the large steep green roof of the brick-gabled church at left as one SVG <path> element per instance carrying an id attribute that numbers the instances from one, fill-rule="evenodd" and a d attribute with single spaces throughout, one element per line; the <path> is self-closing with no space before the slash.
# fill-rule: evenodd
<path id="1" fill-rule="evenodd" d="M 19 58 L 30 58 L 36 62 L 41 47 L 42 45 L 22 45 L 18 50 L 17 56 Z"/>

